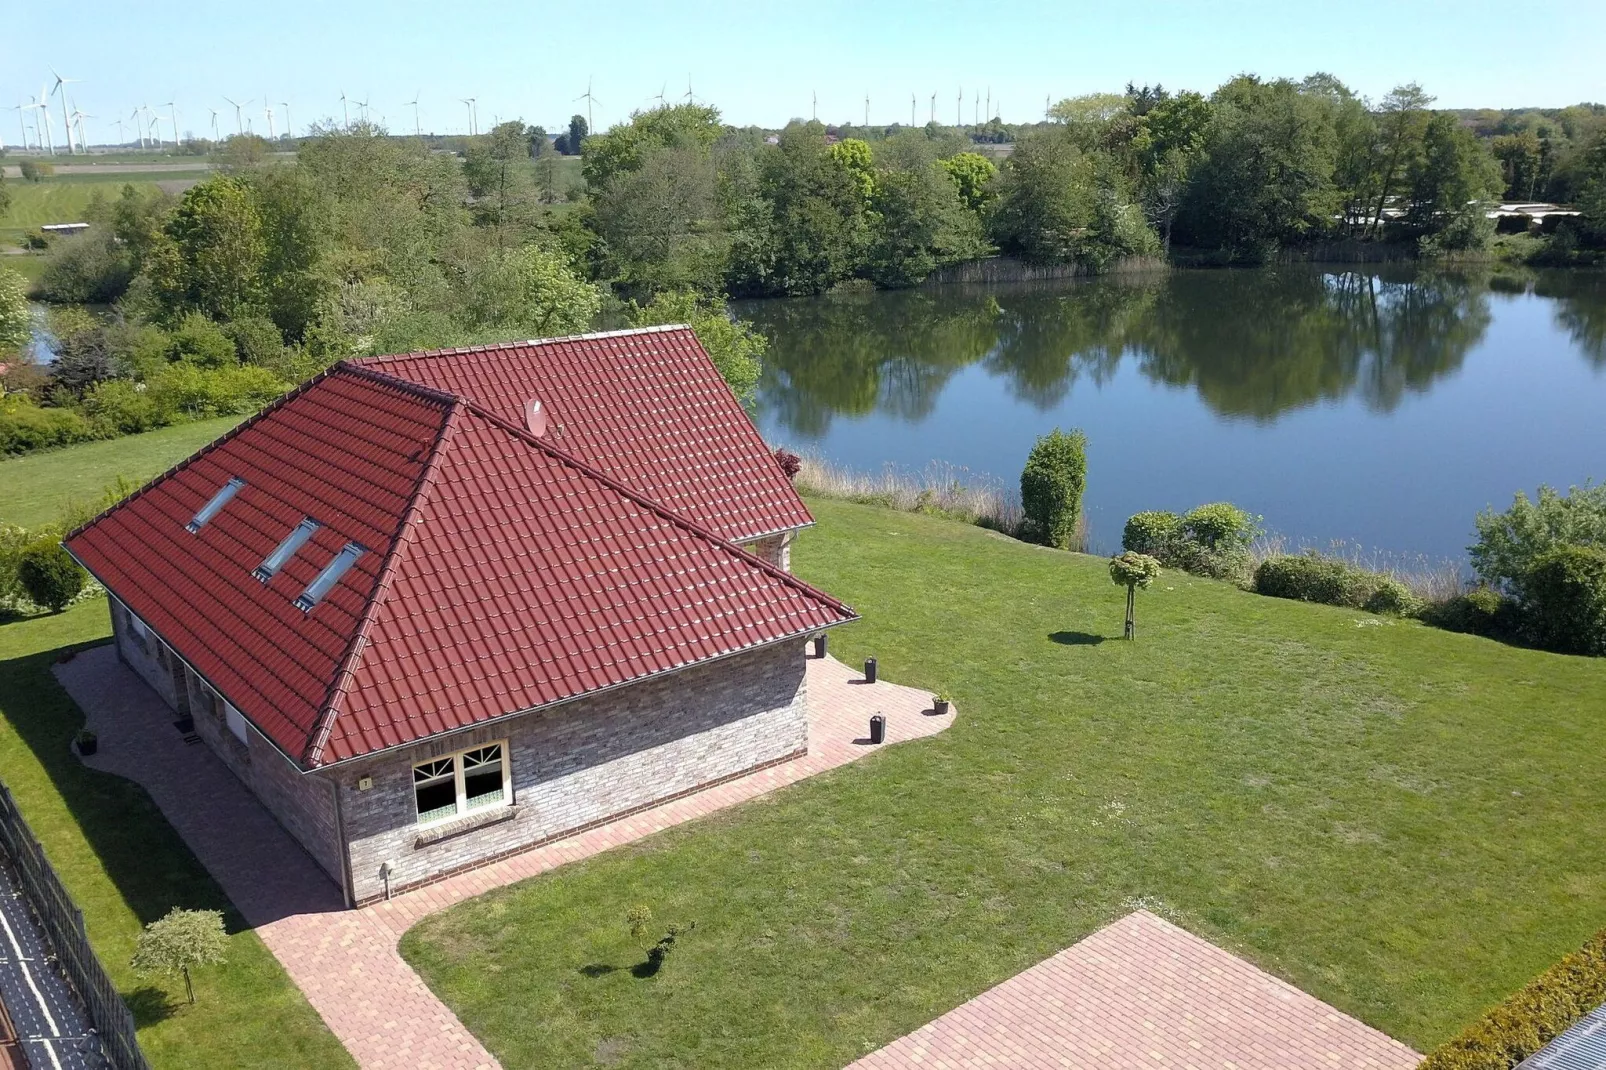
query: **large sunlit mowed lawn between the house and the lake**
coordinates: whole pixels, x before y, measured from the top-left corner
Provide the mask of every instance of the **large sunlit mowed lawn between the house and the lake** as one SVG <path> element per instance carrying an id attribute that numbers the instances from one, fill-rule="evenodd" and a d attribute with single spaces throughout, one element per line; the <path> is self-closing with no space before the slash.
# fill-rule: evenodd
<path id="1" fill-rule="evenodd" d="M 1169 572 L 1124 643 L 1102 559 L 811 506 L 957 723 L 408 932 L 503 1065 L 842 1067 L 1135 906 L 1426 1049 L 1606 924 L 1606 660 Z"/>

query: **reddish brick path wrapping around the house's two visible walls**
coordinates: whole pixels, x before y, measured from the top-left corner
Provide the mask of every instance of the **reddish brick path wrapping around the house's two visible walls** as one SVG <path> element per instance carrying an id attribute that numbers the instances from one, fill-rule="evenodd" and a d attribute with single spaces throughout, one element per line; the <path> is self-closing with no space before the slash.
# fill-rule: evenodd
<path id="1" fill-rule="evenodd" d="M 952 713 L 930 712 L 925 691 L 864 684 L 835 659 L 811 657 L 806 757 L 350 911 L 336 885 L 234 774 L 204 744 L 185 745 L 172 728 L 172 710 L 109 644 L 58 665 L 56 676 L 100 737 L 100 752 L 85 762 L 145 786 L 365 1070 L 498 1065 L 397 951 L 397 940 L 418 919 L 862 758 L 880 750 L 864 739 L 870 713 L 887 715 L 882 747 L 952 723 Z"/>

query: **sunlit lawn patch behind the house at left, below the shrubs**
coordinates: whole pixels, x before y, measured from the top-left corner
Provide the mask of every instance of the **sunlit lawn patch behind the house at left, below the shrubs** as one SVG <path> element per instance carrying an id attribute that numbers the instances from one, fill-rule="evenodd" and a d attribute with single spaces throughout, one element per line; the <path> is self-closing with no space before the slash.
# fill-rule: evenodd
<path id="1" fill-rule="evenodd" d="M 39 527 L 74 500 L 98 498 L 119 476 L 143 484 L 165 472 L 241 421 L 239 416 L 175 424 L 143 435 L 85 442 L 0 461 L 0 524 Z"/>

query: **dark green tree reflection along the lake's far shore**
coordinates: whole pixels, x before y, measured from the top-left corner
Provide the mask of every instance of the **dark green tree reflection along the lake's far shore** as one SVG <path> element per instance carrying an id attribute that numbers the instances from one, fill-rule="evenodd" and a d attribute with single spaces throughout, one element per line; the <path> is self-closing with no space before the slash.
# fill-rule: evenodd
<path id="1" fill-rule="evenodd" d="M 1561 326 L 1606 368 L 1606 283 L 1584 272 L 1513 283 L 1487 268 L 1288 265 L 747 302 L 739 313 L 771 339 L 766 423 L 805 439 L 838 415 L 923 421 L 972 365 L 1046 411 L 1126 358 L 1219 416 L 1270 423 L 1344 398 L 1392 411 L 1461 366 L 1492 321 L 1490 294 L 1513 284 L 1555 297 Z"/>

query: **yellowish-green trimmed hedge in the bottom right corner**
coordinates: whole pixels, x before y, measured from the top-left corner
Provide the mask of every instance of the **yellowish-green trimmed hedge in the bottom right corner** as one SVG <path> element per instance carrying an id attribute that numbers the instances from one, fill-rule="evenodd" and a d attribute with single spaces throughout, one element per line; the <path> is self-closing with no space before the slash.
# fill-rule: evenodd
<path id="1" fill-rule="evenodd" d="M 1606 1003 L 1606 930 L 1489 1009 L 1418 1070 L 1511 1070 Z"/>

